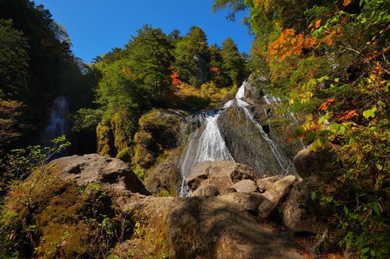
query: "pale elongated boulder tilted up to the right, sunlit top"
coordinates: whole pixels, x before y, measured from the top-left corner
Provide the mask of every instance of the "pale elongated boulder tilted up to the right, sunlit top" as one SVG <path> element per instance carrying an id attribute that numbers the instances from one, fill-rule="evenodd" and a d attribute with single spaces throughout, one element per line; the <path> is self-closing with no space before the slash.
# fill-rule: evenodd
<path id="1" fill-rule="evenodd" d="M 268 218 L 289 194 L 293 184 L 297 181 L 293 175 L 288 175 L 282 180 L 273 183 L 270 190 L 263 193 L 265 199 L 259 205 L 259 213 L 263 218 Z"/>

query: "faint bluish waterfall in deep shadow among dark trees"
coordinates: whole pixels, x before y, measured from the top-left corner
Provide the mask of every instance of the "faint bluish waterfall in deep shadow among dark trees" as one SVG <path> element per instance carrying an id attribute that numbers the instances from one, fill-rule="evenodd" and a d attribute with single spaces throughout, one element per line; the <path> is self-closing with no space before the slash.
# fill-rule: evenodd
<path id="1" fill-rule="evenodd" d="M 59 96 L 54 100 L 53 107 L 50 111 L 49 124 L 41 134 L 41 141 L 43 144 L 50 145 L 50 140 L 65 135 L 69 138 L 70 127 L 69 121 L 66 118 L 68 113 L 68 101 L 63 96 Z M 55 155 L 55 158 L 65 156 L 68 154 L 67 150 Z"/>

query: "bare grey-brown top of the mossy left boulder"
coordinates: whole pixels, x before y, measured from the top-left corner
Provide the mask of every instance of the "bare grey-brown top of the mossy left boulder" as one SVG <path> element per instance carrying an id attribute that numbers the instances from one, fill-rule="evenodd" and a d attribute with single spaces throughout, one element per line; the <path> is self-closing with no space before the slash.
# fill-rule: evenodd
<path id="1" fill-rule="evenodd" d="M 150 194 L 125 162 L 117 158 L 98 154 L 72 155 L 53 160 L 47 168 L 55 169 L 62 180 L 75 180 L 79 186 L 101 184 L 105 190 L 113 192 L 126 190 Z"/>

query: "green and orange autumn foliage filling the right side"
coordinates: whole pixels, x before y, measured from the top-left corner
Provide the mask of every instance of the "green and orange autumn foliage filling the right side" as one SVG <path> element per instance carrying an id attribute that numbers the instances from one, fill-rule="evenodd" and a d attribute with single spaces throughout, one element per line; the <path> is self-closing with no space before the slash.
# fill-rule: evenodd
<path id="1" fill-rule="evenodd" d="M 326 227 L 356 257 L 387 258 L 389 1 L 215 0 L 226 7 L 250 9 L 250 68 L 303 122 L 291 138 L 334 151 L 308 206 L 331 204 Z"/>

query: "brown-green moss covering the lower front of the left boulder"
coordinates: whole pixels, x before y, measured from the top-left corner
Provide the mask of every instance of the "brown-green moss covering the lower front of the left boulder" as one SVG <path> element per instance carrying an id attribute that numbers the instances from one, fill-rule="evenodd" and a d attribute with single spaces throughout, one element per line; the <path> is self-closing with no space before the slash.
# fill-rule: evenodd
<path id="1" fill-rule="evenodd" d="M 91 197 L 80 192 L 76 182 L 61 180 L 56 169 L 47 168 L 34 189 L 38 171 L 8 193 L 1 209 L 0 236 L 10 242 L 0 240 L 1 254 L 75 258 L 98 253 L 99 239 L 94 225 L 88 223 L 93 218 Z M 95 205 L 96 215 L 114 213 L 107 197 Z"/>

